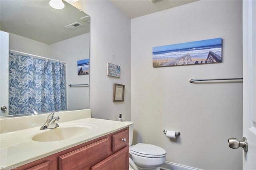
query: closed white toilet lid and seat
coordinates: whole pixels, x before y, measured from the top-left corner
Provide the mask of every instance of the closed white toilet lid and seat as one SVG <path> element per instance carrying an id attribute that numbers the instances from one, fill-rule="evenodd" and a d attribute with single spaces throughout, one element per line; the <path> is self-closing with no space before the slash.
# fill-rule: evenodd
<path id="1" fill-rule="evenodd" d="M 166 151 L 153 144 L 138 143 L 131 148 L 131 153 L 145 157 L 163 157 Z"/>

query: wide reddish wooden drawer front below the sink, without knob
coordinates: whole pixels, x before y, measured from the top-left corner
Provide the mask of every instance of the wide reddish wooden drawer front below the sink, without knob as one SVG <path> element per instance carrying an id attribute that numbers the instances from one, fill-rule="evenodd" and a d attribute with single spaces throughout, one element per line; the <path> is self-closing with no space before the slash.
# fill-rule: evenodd
<path id="1" fill-rule="evenodd" d="M 95 160 L 107 156 L 109 151 L 109 142 L 109 138 L 104 138 L 98 142 L 60 156 L 58 158 L 59 169 L 80 169 L 94 162 Z"/>

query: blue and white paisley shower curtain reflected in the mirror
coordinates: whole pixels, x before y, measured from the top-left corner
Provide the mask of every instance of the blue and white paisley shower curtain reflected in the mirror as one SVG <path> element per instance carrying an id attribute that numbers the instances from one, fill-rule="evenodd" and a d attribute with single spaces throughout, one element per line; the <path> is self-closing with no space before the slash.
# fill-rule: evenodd
<path id="1" fill-rule="evenodd" d="M 9 115 L 66 110 L 64 64 L 9 51 Z"/>

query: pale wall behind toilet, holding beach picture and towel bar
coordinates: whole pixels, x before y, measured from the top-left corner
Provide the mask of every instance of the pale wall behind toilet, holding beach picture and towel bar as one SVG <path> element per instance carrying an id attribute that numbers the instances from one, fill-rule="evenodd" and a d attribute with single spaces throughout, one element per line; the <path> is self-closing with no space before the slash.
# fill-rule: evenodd
<path id="1" fill-rule="evenodd" d="M 242 169 L 242 83 L 189 83 L 242 77 L 242 1 L 200 0 L 132 19 L 131 120 L 135 142 L 158 145 L 166 160 L 201 169 Z M 223 39 L 222 63 L 152 67 L 152 47 Z M 163 130 L 180 131 L 177 140 Z"/>

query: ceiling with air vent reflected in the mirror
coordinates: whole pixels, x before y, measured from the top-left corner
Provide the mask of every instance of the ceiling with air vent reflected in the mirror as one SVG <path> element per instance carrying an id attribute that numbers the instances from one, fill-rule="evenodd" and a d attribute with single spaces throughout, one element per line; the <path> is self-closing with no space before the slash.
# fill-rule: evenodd
<path id="1" fill-rule="evenodd" d="M 56 10 L 49 0 L 0 0 L 0 30 L 46 44 L 90 32 L 90 17 L 63 2 L 65 8 Z M 82 26 L 65 28 L 76 22 Z"/>

